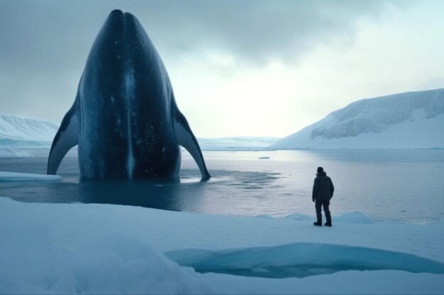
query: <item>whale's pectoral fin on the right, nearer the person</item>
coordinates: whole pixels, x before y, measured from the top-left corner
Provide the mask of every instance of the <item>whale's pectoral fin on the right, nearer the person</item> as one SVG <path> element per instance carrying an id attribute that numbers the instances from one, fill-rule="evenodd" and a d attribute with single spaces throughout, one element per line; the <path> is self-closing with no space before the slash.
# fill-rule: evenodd
<path id="1" fill-rule="evenodd" d="M 188 121 L 184 115 L 182 115 L 182 112 L 177 108 L 174 109 L 173 127 L 176 140 L 193 156 L 194 161 L 196 161 L 197 166 L 199 166 L 199 169 L 201 170 L 202 180 L 209 180 L 211 175 L 208 173 L 208 170 L 206 170 L 204 156 L 202 156 L 199 143 L 197 142 L 196 137 L 194 137 L 192 129 L 189 127 Z"/>

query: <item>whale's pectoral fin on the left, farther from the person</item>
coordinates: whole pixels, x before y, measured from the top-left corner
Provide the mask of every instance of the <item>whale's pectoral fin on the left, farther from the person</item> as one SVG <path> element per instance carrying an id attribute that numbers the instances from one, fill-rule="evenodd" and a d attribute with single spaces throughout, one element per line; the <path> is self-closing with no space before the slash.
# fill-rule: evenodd
<path id="1" fill-rule="evenodd" d="M 50 156 L 48 158 L 48 174 L 57 173 L 60 162 L 66 153 L 79 144 L 79 117 L 76 104 L 66 113 L 62 120 L 59 131 L 52 141 Z"/>

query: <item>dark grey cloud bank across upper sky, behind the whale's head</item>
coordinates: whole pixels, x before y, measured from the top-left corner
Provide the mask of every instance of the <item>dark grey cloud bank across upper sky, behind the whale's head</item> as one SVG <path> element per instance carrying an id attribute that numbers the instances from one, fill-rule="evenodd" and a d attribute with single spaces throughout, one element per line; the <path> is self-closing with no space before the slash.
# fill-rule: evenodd
<path id="1" fill-rule="evenodd" d="M 60 118 L 57 110 L 72 103 L 92 42 L 115 8 L 139 19 L 168 62 L 199 54 L 205 62 L 215 52 L 262 67 L 353 40 L 357 21 L 377 18 L 387 3 L 393 1 L 0 0 L 0 111 Z M 49 113 L 38 107 L 48 102 Z"/>

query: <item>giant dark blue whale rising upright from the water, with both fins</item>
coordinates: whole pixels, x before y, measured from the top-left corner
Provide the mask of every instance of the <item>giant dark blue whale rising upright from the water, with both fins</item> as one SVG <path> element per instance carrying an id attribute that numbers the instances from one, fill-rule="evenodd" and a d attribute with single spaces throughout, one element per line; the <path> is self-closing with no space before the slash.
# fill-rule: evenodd
<path id="1" fill-rule="evenodd" d="M 78 145 L 82 178 L 179 178 L 184 147 L 209 180 L 177 107 L 167 69 L 133 14 L 111 11 L 91 47 L 77 95 L 55 134 L 48 174 Z"/>

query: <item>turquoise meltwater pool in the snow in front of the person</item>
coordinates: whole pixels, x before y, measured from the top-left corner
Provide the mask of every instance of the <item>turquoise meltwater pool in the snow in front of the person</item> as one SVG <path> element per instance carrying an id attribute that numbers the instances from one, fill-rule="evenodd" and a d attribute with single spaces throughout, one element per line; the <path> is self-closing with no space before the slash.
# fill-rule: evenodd
<path id="1" fill-rule="evenodd" d="M 196 272 L 247 277 L 310 277 L 346 270 L 401 270 L 443 274 L 444 264 L 416 255 L 374 248 L 294 243 L 228 250 L 177 250 L 165 253 Z"/>

